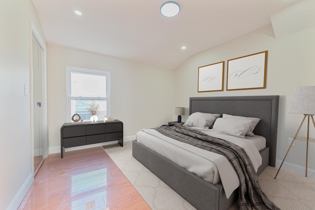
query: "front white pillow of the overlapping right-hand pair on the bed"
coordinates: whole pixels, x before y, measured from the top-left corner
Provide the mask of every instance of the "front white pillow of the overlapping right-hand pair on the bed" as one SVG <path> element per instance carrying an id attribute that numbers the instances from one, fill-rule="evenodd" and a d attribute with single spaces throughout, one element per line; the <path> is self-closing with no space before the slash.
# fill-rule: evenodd
<path id="1" fill-rule="evenodd" d="M 213 129 L 244 139 L 246 133 L 250 129 L 251 124 L 252 120 L 241 118 L 218 118 L 213 125 Z"/>

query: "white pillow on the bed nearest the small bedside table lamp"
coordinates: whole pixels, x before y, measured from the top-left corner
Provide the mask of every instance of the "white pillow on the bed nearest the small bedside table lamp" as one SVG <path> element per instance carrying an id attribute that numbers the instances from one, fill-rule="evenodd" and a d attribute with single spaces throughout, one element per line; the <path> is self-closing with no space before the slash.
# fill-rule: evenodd
<path id="1" fill-rule="evenodd" d="M 220 114 L 195 112 L 188 117 L 184 125 L 189 127 L 212 128 L 213 123 L 220 117 Z"/>

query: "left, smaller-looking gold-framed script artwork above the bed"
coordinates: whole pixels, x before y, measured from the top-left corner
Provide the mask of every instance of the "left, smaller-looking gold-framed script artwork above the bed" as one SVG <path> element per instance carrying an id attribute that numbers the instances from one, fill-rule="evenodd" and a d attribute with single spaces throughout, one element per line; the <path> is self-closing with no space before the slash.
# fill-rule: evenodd
<path id="1" fill-rule="evenodd" d="M 224 61 L 198 68 L 198 92 L 223 90 Z"/>

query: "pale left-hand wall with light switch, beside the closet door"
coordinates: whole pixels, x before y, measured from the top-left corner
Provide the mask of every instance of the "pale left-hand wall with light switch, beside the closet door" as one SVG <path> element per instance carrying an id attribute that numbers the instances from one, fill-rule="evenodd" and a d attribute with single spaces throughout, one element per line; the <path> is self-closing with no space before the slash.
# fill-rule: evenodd
<path id="1" fill-rule="evenodd" d="M 1 210 L 19 205 L 32 177 L 30 94 L 24 95 L 24 85 L 30 87 L 31 21 L 44 40 L 31 0 L 0 1 Z"/>

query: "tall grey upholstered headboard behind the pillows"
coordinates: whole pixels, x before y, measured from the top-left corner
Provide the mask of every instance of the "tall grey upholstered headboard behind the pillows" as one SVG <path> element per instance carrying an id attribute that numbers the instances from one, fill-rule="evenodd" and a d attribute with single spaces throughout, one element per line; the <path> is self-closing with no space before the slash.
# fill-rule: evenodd
<path id="1" fill-rule="evenodd" d="M 270 148 L 269 165 L 276 166 L 279 95 L 190 97 L 189 115 L 194 112 L 260 118 L 253 133 L 264 136 Z"/>

